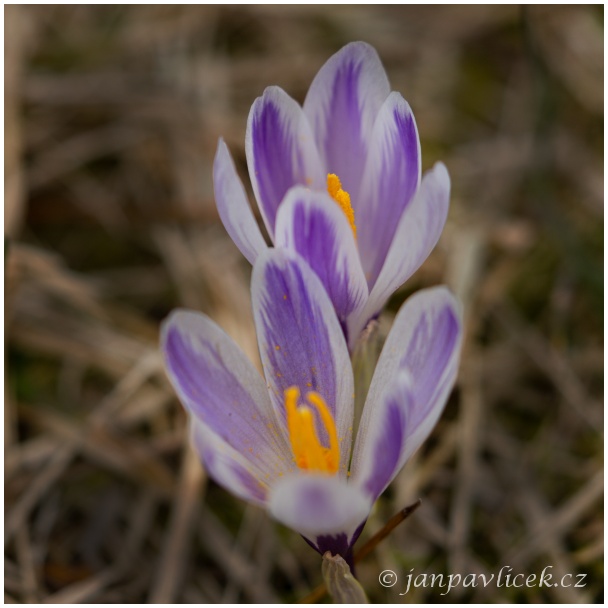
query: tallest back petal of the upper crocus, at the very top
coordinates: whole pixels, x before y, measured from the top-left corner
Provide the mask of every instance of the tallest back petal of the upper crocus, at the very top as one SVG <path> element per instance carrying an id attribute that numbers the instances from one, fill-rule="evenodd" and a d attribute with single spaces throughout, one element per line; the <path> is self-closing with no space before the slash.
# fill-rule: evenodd
<path id="1" fill-rule="evenodd" d="M 378 53 L 365 42 L 330 57 L 310 85 L 304 112 L 323 165 L 351 196 L 359 192 L 374 121 L 389 93 Z"/>

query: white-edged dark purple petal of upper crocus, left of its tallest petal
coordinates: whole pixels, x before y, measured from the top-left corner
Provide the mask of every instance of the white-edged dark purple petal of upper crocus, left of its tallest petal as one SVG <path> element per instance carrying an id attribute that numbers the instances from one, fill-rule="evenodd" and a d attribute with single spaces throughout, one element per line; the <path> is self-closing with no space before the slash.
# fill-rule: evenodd
<path id="1" fill-rule="evenodd" d="M 279 87 L 268 87 L 253 103 L 245 151 L 253 191 L 274 238 L 277 210 L 287 191 L 297 184 L 325 190 L 327 181 L 302 108 Z"/>

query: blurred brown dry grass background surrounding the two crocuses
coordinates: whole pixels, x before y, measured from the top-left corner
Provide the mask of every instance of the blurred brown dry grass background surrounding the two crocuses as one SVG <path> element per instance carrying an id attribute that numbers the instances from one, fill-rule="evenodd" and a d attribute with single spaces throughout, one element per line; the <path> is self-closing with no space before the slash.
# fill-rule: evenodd
<path id="1" fill-rule="evenodd" d="M 380 603 L 602 601 L 601 7 L 4 10 L 6 601 L 293 602 L 321 582 L 300 537 L 206 478 L 157 342 L 186 306 L 257 357 L 217 140 L 249 188 L 253 100 L 276 84 L 302 102 L 353 40 L 376 47 L 423 168 L 443 160 L 453 188 L 381 333 L 439 283 L 467 322 L 446 412 L 360 544 L 422 506 L 359 564 L 363 586 Z M 503 566 L 587 577 L 398 595 L 412 568 Z"/>

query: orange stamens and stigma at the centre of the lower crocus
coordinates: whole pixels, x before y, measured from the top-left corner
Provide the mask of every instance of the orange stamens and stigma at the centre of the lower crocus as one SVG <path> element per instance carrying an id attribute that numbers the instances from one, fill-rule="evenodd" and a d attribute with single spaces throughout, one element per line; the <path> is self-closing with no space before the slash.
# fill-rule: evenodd
<path id="1" fill-rule="evenodd" d="M 292 386 L 285 391 L 287 430 L 296 464 L 300 469 L 334 474 L 340 466 L 340 448 L 336 423 L 319 393 L 310 392 L 306 398 L 317 410 L 323 427 L 329 436 L 329 447 L 319 441 L 315 431 L 315 416 L 311 408 L 298 406 L 300 391 Z"/>

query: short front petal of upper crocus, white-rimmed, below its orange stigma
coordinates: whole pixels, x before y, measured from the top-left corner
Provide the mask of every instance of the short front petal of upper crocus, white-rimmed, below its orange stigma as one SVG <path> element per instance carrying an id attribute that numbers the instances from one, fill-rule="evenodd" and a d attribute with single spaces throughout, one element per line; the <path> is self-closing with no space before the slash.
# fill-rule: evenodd
<path id="1" fill-rule="evenodd" d="M 343 327 L 369 292 L 355 237 L 344 212 L 323 192 L 292 188 L 275 229 L 275 244 L 300 254 L 321 279 Z"/>

